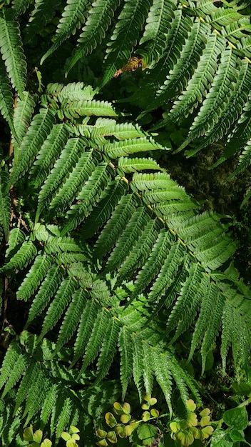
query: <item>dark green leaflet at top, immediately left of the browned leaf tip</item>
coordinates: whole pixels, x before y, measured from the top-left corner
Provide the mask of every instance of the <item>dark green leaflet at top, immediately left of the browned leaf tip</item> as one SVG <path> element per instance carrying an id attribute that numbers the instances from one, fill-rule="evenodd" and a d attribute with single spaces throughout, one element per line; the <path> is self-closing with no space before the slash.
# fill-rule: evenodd
<path id="1" fill-rule="evenodd" d="M 148 0 L 126 0 L 106 49 L 107 68 L 103 76 L 103 85 L 110 81 L 116 70 L 130 59 L 149 8 Z"/>

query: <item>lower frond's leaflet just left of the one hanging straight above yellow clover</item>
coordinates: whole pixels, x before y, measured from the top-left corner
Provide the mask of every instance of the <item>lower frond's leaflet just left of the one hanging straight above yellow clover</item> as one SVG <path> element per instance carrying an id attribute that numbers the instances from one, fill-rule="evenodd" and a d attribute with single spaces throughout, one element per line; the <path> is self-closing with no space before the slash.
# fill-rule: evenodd
<path id="1" fill-rule="evenodd" d="M 106 336 L 103 339 L 101 346 L 101 352 L 97 361 L 97 378 L 96 384 L 100 383 L 106 374 L 108 373 L 113 357 L 116 353 L 116 346 L 118 342 L 118 333 L 121 326 L 118 324 L 115 318 L 111 318 L 107 330 Z"/>

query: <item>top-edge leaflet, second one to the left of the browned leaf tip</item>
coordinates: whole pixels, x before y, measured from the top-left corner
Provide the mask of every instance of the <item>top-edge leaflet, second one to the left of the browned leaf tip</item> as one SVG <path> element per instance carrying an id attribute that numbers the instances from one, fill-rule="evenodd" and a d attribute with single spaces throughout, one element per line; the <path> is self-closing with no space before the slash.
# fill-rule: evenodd
<path id="1" fill-rule="evenodd" d="M 67 73 L 73 68 L 78 59 L 87 54 L 91 54 L 93 49 L 101 43 L 106 36 L 108 26 L 111 24 L 114 12 L 118 9 L 120 0 L 99 0 L 93 1 L 91 9 L 88 11 L 88 19 L 83 26 L 82 33 L 78 38 L 78 46 L 73 54 Z"/>

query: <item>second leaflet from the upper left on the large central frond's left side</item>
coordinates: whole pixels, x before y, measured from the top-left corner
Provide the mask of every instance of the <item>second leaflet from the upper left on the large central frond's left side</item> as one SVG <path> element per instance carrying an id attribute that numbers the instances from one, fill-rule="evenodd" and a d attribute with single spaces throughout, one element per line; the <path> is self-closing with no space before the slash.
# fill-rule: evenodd
<path id="1" fill-rule="evenodd" d="M 36 160 L 31 166 L 31 179 L 36 188 L 39 188 L 46 179 L 53 163 L 55 163 L 59 154 L 63 150 L 68 137 L 69 133 L 64 124 L 55 124 L 51 129 L 51 133 L 43 142 L 43 145 L 36 156 Z"/>

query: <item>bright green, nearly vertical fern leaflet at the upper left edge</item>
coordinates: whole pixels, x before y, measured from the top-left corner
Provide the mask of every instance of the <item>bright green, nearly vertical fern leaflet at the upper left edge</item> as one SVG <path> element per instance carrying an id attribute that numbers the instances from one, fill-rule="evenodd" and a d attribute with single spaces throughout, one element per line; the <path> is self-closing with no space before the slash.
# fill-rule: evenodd
<path id="1" fill-rule="evenodd" d="M 22 99 L 26 86 L 26 60 L 20 37 L 19 23 L 0 14 L 0 51 L 9 79 Z"/>

